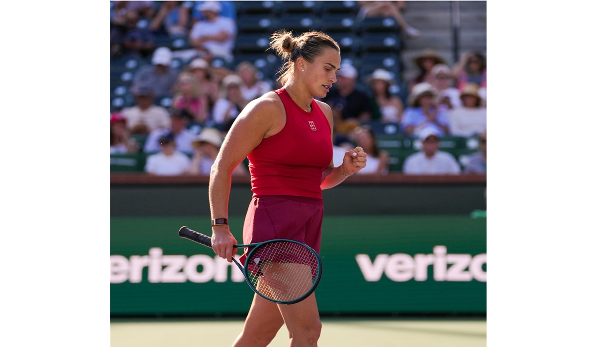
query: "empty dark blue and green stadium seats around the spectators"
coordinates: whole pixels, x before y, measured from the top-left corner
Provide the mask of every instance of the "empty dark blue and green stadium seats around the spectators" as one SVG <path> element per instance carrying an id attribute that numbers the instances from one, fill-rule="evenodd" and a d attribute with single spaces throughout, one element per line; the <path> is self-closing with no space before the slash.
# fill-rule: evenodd
<path id="1" fill-rule="evenodd" d="M 393 18 L 358 18 L 356 1 L 235 1 L 238 35 L 234 48 L 234 60 L 215 59 L 214 66 L 231 70 L 241 61 L 252 62 L 263 79 L 275 80 L 282 61 L 268 51 L 270 37 L 277 29 L 287 29 L 299 35 L 309 30 L 321 30 L 336 40 L 342 50 L 342 62 L 350 62 L 358 69 L 357 85 L 367 87 L 365 80 L 375 68 L 384 68 L 393 74 L 396 84 L 392 92 L 404 101 L 405 83 L 402 73 L 401 28 Z M 190 48 L 186 37 L 156 36 L 157 46 L 167 46 L 172 51 Z M 139 67 L 150 64 L 148 59 L 119 58 L 111 60 L 110 109 L 121 110 L 134 105 L 130 87 L 132 77 Z M 173 67 L 183 68 L 188 61 L 175 57 Z M 169 107 L 171 98 L 156 99 L 155 104 Z M 390 153 L 390 171 L 401 171 L 403 160 L 417 151 L 416 139 L 406 137 L 399 124 L 371 123 L 377 133 L 378 145 Z M 445 137 L 441 148 L 465 161 L 465 156 L 475 151 L 473 139 Z M 142 171 L 145 156 L 112 156 L 113 171 Z"/>

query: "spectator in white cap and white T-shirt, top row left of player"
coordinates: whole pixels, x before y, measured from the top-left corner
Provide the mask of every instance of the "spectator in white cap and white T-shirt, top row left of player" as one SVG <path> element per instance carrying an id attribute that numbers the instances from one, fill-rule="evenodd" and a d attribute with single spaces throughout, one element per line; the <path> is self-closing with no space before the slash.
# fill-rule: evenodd
<path id="1" fill-rule="evenodd" d="M 205 1 L 198 5 L 204 20 L 197 21 L 190 32 L 190 42 L 207 60 L 223 58 L 232 61 L 238 27 L 235 20 L 220 15 L 219 1 Z"/>

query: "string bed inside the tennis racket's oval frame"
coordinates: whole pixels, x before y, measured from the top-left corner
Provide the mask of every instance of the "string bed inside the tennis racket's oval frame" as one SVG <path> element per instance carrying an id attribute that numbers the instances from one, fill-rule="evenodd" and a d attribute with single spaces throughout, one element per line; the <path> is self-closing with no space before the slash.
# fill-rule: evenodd
<path id="1" fill-rule="evenodd" d="M 299 243 L 275 242 L 256 249 L 247 264 L 257 292 L 277 301 L 293 301 L 309 292 L 318 276 L 318 261 Z"/>

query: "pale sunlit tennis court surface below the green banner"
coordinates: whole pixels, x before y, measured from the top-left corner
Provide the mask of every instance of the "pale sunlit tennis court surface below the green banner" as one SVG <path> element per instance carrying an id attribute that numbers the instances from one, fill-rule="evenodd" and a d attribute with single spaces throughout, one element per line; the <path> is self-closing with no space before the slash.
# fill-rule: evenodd
<path id="1" fill-rule="evenodd" d="M 319 346 L 486 346 L 485 318 L 321 318 Z M 240 332 L 242 318 L 145 319 L 114 318 L 111 347 L 229 347 Z M 287 347 L 285 327 L 270 347 Z"/>

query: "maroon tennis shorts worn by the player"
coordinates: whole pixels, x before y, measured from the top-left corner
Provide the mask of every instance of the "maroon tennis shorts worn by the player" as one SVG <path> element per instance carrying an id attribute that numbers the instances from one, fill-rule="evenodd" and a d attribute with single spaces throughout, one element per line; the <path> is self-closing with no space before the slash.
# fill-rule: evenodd
<path id="1" fill-rule="evenodd" d="M 321 249 L 323 222 L 322 199 L 302 196 L 258 196 L 250 202 L 243 229 L 243 243 L 258 243 L 273 239 L 289 239 Z M 250 249 L 240 257 L 246 261 Z"/>

